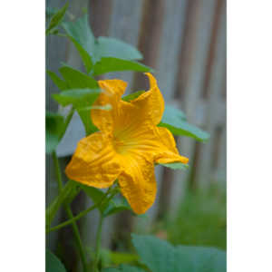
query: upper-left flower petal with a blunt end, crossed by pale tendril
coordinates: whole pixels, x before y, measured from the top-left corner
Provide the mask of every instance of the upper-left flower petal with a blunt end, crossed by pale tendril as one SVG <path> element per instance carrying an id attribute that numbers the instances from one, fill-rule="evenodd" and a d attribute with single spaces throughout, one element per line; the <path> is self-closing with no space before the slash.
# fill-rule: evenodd
<path id="1" fill-rule="evenodd" d="M 99 95 L 96 102 L 93 103 L 93 106 L 110 104 L 112 110 L 91 110 L 92 122 L 100 131 L 112 132 L 114 116 L 119 112 L 121 95 L 125 92 L 127 83 L 121 80 L 105 80 L 98 83 L 103 92 Z"/>

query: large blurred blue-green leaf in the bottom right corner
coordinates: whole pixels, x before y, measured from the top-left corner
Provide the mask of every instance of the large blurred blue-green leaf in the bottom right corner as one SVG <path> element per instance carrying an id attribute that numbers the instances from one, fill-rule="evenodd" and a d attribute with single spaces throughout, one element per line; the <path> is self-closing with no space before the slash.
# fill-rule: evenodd
<path id="1" fill-rule="evenodd" d="M 217 248 L 173 247 L 153 236 L 132 234 L 141 261 L 156 272 L 224 272 L 226 253 Z"/>

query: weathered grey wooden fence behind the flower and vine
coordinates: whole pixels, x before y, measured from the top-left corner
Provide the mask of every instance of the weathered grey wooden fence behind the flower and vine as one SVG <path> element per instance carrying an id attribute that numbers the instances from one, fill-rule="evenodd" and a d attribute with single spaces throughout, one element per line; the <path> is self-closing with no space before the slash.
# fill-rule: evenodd
<path id="1" fill-rule="evenodd" d="M 60 7 L 65 2 L 47 0 L 46 4 Z M 226 0 L 73 0 L 70 3 L 71 17 L 83 15 L 86 8 L 95 36 L 116 37 L 138 47 L 144 56 L 142 63 L 156 70 L 165 100 L 180 107 L 189 122 L 210 133 L 205 144 L 185 137 L 177 140 L 180 153 L 189 157 L 189 171 L 157 167 L 158 196 L 148 212 L 149 219 L 145 220 L 148 228 L 165 213 L 175 215 L 186 180 L 194 188 L 207 188 L 211 182 L 224 184 L 226 180 Z M 83 68 L 73 44 L 63 37 L 50 36 L 46 45 L 46 65 L 50 70 L 57 72 L 61 61 Z M 110 73 L 108 77 L 129 82 L 130 90 L 148 89 L 141 73 Z M 50 99 L 53 92 L 57 92 L 56 87 L 47 78 L 46 108 L 57 111 L 57 105 Z M 63 163 L 69 160 L 83 133 L 79 117 L 74 116 L 57 151 Z M 50 200 L 55 181 L 49 158 L 46 163 Z M 89 201 L 82 201 L 77 207 L 89 206 Z M 92 244 L 96 217 L 90 215 L 82 222 L 86 243 Z M 118 228 L 137 226 L 130 217 L 108 219 L 103 231 L 104 246 L 110 243 L 112 224 L 119 224 Z M 55 239 L 52 237 L 51 243 Z"/>

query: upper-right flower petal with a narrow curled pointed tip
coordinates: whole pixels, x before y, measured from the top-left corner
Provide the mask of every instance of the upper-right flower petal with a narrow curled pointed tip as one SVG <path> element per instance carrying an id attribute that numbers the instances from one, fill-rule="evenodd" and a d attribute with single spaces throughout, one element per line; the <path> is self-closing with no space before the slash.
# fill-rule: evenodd
<path id="1" fill-rule="evenodd" d="M 156 79 L 151 73 L 145 74 L 149 77 L 151 89 L 148 92 L 143 92 L 131 103 L 140 108 L 144 115 L 150 118 L 154 125 L 157 125 L 164 112 L 164 100 Z"/>

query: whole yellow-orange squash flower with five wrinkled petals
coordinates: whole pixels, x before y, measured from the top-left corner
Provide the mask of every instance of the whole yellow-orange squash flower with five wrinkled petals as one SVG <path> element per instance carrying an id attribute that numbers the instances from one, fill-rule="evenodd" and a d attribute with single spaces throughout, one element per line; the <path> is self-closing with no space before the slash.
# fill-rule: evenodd
<path id="1" fill-rule="evenodd" d="M 110 187 L 118 179 L 121 193 L 135 213 L 144 213 L 156 197 L 154 163 L 182 162 L 175 140 L 157 127 L 164 111 L 156 79 L 146 73 L 150 91 L 131 102 L 121 100 L 127 83 L 99 81 L 103 92 L 94 105 L 111 104 L 111 111 L 93 109 L 92 122 L 100 130 L 79 141 L 66 168 L 71 180 L 96 188 Z"/>

